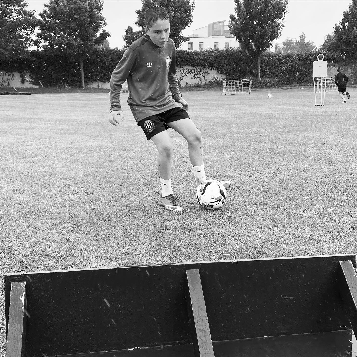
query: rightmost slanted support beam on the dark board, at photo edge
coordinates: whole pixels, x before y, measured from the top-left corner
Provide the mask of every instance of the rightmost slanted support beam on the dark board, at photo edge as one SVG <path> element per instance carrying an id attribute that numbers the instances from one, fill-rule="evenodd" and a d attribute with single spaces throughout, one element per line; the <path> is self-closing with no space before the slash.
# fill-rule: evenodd
<path id="1" fill-rule="evenodd" d="M 353 332 L 357 336 L 357 276 L 350 260 L 340 261 L 340 266 L 340 294 Z"/>

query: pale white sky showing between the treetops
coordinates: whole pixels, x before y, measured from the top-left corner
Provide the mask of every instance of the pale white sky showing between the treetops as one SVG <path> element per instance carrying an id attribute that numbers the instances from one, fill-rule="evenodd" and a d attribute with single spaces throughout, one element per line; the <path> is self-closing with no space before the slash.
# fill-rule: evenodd
<path id="1" fill-rule="evenodd" d="M 47 0 L 26 0 L 28 10 L 36 10 L 38 14 L 44 9 Z M 318 47 L 322 45 L 324 36 L 333 32 L 333 26 L 342 19 L 343 11 L 348 9 L 352 0 L 288 0 L 288 14 L 284 19 L 281 37 L 276 42 L 283 42 L 287 37 L 299 39 L 305 32 L 306 41 L 313 41 Z M 102 15 L 107 25 L 105 29 L 111 34 L 108 37 L 111 48 L 124 46 L 123 35 L 126 27 L 134 25 L 137 19 L 135 10 L 141 9 L 141 0 L 104 0 Z M 226 20 L 229 14 L 235 14 L 233 0 L 196 0 L 193 11 L 193 21 L 190 27 L 183 31 L 183 35 L 191 35 L 194 29 L 206 26 L 213 21 Z"/>

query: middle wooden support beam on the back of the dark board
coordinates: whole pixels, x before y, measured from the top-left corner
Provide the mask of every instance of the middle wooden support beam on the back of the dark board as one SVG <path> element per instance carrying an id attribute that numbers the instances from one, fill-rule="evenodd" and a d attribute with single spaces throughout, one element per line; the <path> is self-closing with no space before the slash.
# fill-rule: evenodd
<path id="1" fill-rule="evenodd" d="M 214 357 L 200 271 L 198 269 L 186 270 L 186 276 L 186 301 L 195 357 Z"/>

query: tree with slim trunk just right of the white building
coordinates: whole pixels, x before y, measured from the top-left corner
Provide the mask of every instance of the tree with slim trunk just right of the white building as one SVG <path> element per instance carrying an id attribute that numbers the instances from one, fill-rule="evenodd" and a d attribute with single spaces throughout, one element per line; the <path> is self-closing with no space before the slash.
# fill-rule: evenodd
<path id="1" fill-rule="evenodd" d="M 231 34 L 242 50 L 256 62 L 260 81 L 260 56 L 281 35 L 282 19 L 287 14 L 287 0 L 235 0 L 236 16 L 229 17 Z"/>

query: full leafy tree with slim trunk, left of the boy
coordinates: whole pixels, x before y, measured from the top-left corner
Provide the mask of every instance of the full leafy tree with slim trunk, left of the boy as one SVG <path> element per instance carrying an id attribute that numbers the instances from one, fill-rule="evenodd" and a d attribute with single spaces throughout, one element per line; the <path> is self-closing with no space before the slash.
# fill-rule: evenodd
<path id="1" fill-rule="evenodd" d="M 106 40 L 110 34 L 106 30 L 98 34 L 106 25 L 101 15 L 102 0 L 50 0 L 44 5 L 47 10 L 39 13 L 42 17 L 37 46 L 51 49 L 55 53 L 66 52 L 80 63 L 81 82 L 84 87 L 83 61 L 86 56 Z M 42 42 L 41 42 L 42 41 Z"/>

